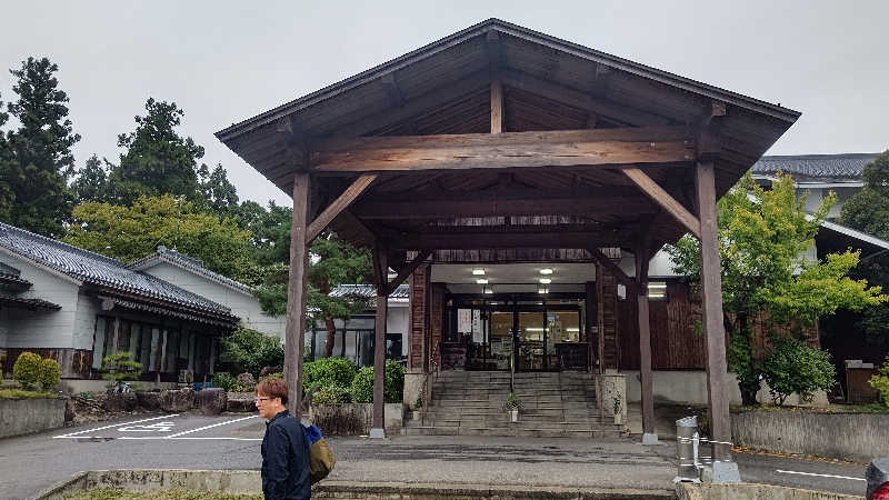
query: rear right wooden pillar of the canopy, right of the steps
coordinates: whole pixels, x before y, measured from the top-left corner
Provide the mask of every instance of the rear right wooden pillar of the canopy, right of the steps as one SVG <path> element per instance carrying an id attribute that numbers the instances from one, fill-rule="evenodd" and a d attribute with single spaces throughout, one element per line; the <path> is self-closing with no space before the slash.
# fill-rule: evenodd
<path id="1" fill-rule="evenodd" d="M 636 249 L 636 312 L 639 321 L 639 379 L 642 387 L 642 444 L 657 444 L 651 381 L 651 330 L 648 313 L 648 249 Z"/>

